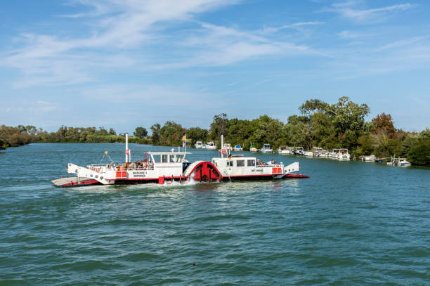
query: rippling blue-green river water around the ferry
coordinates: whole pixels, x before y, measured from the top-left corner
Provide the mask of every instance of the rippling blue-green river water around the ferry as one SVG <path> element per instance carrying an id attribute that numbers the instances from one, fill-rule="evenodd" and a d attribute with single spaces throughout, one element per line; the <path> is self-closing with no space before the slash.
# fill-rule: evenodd
<path id="1" fill-rule="evenodd" d="M 430 285 L 430 169 L 256 154 L 311 178 L 51 184 L 104 150 L 124 162 L 115 143 L 0 152 L 0 285 Z"/>

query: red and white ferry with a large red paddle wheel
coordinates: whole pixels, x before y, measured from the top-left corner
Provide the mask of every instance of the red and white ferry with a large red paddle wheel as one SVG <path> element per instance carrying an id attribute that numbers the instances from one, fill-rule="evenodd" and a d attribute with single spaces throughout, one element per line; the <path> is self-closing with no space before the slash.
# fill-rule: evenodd
<path id="1" fill-rule="evenodd" d="M 222 139 L 221 139 L 222 141 Z M 222 145 L 222 144 L 221 144 Z M 128 136 L 126 135 L 126 156 L 124 164 L 91 164 L 81 167 L 67 164 L 67 174 L 73 177 L 58 178 L 52 182 L 56 186 L 87 186 L 93 184 L 115 185 L 132 183 L 173 183 L 178 181 L 214 182 L 235 179 L 282 179 L 308 178 L 299 174 L 299 162 L 285 166 L 274 160 L 262 162 L 256 157 L 230 155 L 229 150 L 221 150 L 221 156 L 211 162 L 185 160 L 188 152 L 146 152 L 141 161 L 130 162 Z M 109 153 L 105 151 L 109 157 Z M 226 155 L 226 157 L 224 157 Z M 111 160 L 112 161 L 112 160 Z"/>

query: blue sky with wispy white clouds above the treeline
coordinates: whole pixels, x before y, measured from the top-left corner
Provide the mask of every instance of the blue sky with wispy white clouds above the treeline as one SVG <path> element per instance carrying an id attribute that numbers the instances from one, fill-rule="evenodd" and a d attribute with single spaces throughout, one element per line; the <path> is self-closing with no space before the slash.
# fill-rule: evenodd
<path id="1" fill-rule="evenodd" d="M 430 126 L 430 1 L 20 0 L 0 8 L 0 124 L 118 133 L 287 122 L 348 96 Z"/>

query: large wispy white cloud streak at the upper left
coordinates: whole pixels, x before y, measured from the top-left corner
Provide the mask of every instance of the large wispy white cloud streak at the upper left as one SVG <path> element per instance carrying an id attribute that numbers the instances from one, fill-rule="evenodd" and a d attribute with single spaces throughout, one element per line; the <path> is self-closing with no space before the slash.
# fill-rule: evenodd
<path id="1" fill-rule="evenodd" d="M 79 8 L 93 8 L 89 13 L 71 15 L 86 20 L 89 28 L 86 37 L 20 34 L 17 43 L 22 46 L 2 53 L 0 65 L 22 72 L 22 77 L 13 83 L 15 87 L 87 82 L 95 67 L 131 67 L 145 63 L 145 57 L 150 58 L 150 55 L 142 53 L 136 58 L 128 53 L 157 41 L 162 37 L 158 30 L 166 23 L 187 21 L 197 13 L 237 3 L 227 0 L 75 0 L 72 4 Z"/>

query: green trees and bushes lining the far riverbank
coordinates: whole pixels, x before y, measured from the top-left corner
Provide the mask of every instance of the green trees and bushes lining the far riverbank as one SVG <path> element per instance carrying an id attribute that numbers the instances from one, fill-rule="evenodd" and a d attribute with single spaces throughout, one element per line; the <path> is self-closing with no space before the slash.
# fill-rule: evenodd
<path id="1" fill-rule="evenodd" d="M 219 142 L 221 134 L 231 145 L 240 144 L 244 150 L 261 148 L 269 143 L 279 146 L 302 146 L 304 149 L 320 147 L 326 150 L 348 148 L 358 158 L 374 154 L 377 157 L 406 157 L 415 165 L 430 166 L 430 129 L 408 132 L 396 129 L 389 114 L 379 114 L 370 122 L 365 121 L 370 108 L 353 103 L 348 97 L 329 104 L 318 99 L 306 100 L 299 107 L 300 114 L 281 122 L 268 115 L 252 120 L 229 119 L 226 114 L 214 116 L 209 129 L 185 129 L 173 121 L 150 126 L 151 135 L 142 126 L 136 127 L 129 143 L 179 146 L 186 134 L 188 146 L 196 141 Z M 0 149 L 28 143 L 122 143 L 124 134 L 112 128 L 61 126 L 56 132 L 47 132 L 36 126 L 0 126 Z"/>

